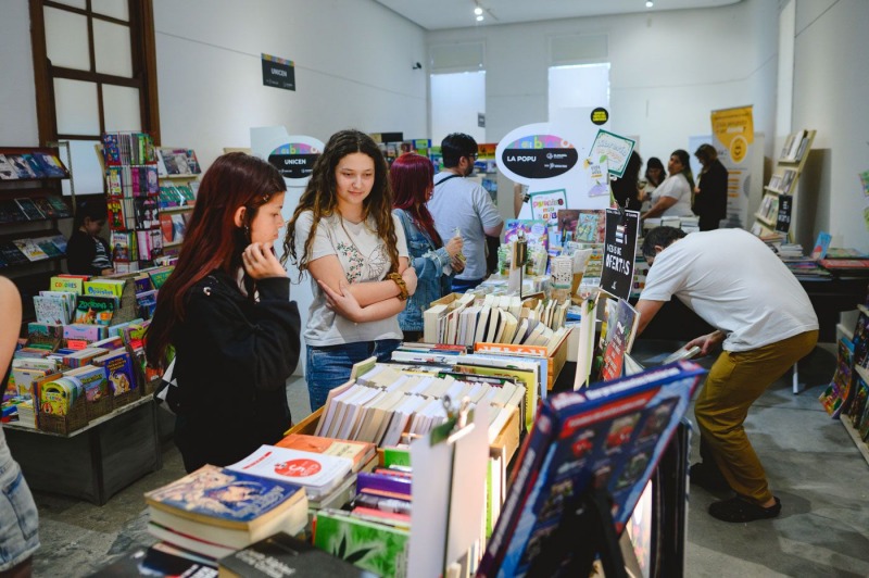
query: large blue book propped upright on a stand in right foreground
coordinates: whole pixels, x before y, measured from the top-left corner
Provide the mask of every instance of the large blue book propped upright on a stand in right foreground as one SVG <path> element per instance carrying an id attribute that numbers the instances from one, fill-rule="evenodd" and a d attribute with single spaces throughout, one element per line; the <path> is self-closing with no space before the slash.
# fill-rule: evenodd
<path id="1" fill-rule="evenodd" d="M 572 499 L 591 488 L 612 498 L 620 533 L 705 373 L 677 362 L 545 400 L 478 576 L 525 575 Z"/>

